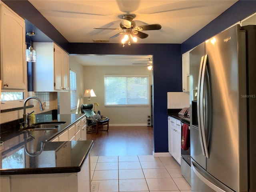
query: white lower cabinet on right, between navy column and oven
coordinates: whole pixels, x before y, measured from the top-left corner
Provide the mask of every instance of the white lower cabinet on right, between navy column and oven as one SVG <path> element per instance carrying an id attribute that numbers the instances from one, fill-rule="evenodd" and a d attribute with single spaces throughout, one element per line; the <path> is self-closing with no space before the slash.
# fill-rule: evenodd
<path id="1" fill-rule="evenodd" d="M 170 116 L 168 116 L 168 145 L 169 153 L 180 164 L 181 124 L 180 120 Z"/>

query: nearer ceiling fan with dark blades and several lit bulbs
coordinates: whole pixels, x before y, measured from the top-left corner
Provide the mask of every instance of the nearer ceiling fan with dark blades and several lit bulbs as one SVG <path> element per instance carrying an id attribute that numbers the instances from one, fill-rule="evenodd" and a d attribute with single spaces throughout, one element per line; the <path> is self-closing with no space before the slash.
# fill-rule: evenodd
<path id="1" fill-rule="evenodd" d="M 121 22 L 119 24 L 120 28 L 94 28 L 94 29 L 123 30 L 122 32 L 110 37 L 110 39 L 115 38 L 121 34 L 124 34 L 124 38 L 122 39 L 122 43 L 124 47 L 124 44 L 127 41 L 128 41 L 128 45 L 130 45 L 130 38 L 132 38 L 134 42 L 137 42 L 137 37 L 141 39 L 148 37 L 148 34 L 141 31 L 160 30 L 162 28 L 160 24 L 136 26 L 136 23 L 133 21 L 133 19 L 136 17 L 135 14 L 123 14 L 120 17 L 121 17 Z"/>

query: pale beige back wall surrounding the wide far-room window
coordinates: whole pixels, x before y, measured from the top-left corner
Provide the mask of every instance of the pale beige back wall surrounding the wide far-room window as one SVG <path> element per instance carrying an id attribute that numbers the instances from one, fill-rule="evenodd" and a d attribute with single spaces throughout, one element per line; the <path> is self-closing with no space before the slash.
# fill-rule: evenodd
<path id="1" fill-rule="evenodd" d="M 84 90 L 93 89 L 96 97 L 90 103 L 98 102 L 95 111 L 110 119 L 111 126 L 146 126 L 147 115 L 150 115 L 150 106 L 145 107 L 105 107 L 104 106 L 104 75 L 150 75 L 152 71 L 144 66 L 84 66 Z M 87 98 L 84 103 L 88 104 Z"/>

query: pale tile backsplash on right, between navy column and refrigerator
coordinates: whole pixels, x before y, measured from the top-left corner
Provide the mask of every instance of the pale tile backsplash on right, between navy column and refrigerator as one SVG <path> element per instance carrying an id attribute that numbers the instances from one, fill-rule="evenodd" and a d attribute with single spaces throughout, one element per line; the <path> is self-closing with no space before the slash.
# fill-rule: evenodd
<path id="1" fill-rule="evenodd" d="M 189 92 L 167 92 L 167 108 L 182 109 L 189 107 Z"/>

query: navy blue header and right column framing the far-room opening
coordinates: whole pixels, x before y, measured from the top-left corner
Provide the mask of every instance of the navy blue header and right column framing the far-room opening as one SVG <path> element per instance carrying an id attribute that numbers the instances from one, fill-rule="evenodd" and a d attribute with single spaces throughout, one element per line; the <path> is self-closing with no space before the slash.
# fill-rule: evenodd
<path id="1" fill-rule="evenodd" d="M 182 91 L 180 44 L 70 43 L 70 54 L 153 55 L 154 152 L 168 152 L 167 92 Z"/>

